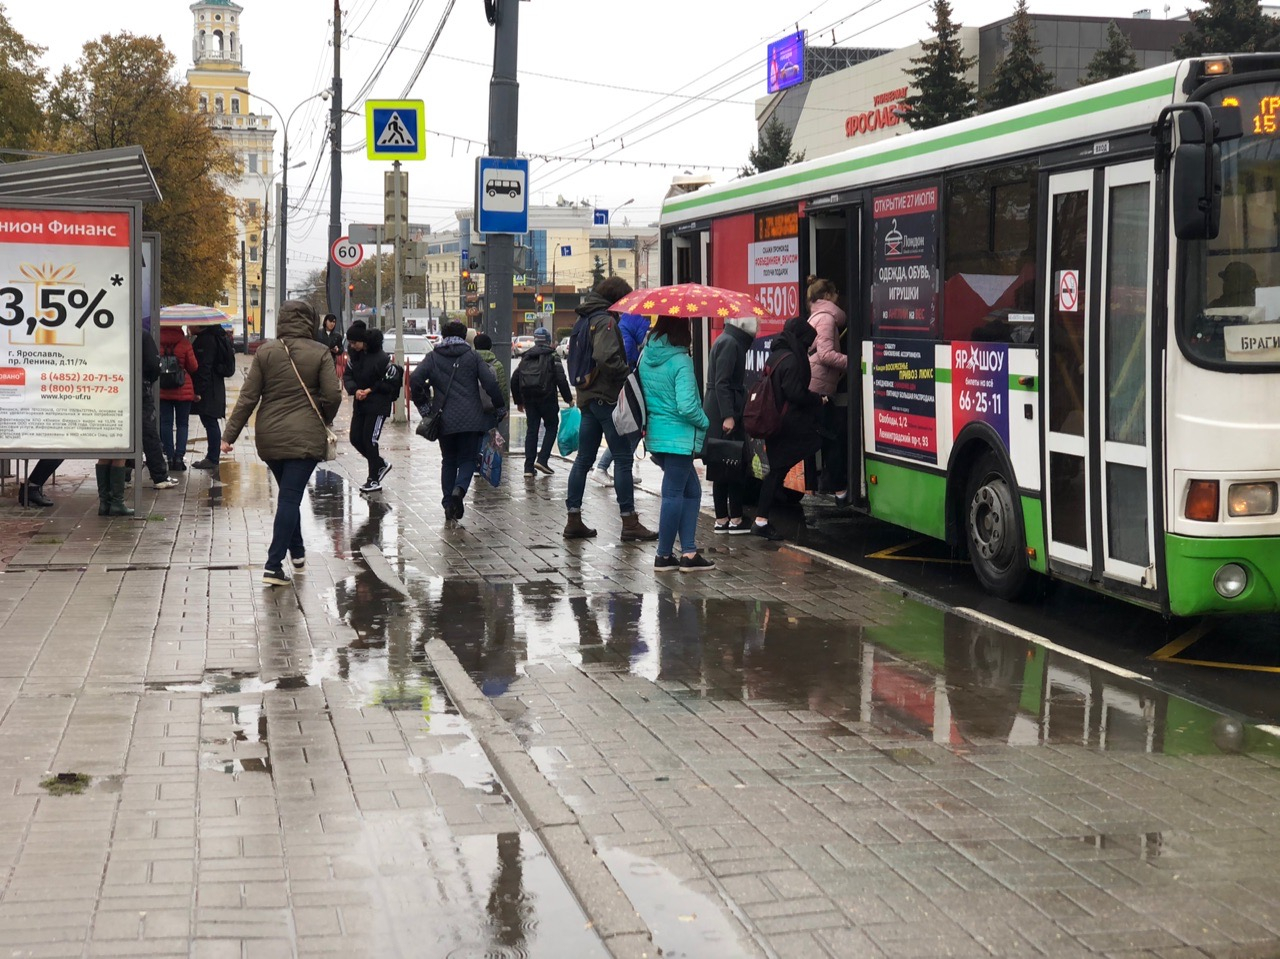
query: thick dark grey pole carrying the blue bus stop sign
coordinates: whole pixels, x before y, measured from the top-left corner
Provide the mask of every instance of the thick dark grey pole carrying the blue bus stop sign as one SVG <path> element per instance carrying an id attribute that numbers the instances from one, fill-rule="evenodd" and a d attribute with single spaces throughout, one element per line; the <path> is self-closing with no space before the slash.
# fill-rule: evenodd
<path id="1" fill-rule="evenodd" d="M 520 82 L 516 65 L 520 52 L 520 0 L 497 0 L 494 4 L 493 78 L 489 81 L 489 154 L 516 155 L 516 131 L 520 119 Z M 512 279 L 515 274 L 516 238 L 509 233 L 489 234 L 489 273 L 485 275 L 484 329 L 493 339 L 498 361 L 511 369 Z M 508 420 L 499 425 L 509 439 Z"/>

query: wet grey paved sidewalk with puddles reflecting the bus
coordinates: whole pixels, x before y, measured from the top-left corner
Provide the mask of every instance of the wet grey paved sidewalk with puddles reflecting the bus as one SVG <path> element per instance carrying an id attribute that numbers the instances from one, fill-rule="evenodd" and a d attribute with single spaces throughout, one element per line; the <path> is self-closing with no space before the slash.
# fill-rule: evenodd
<path id="1" fill-rule="evenodd" d="M 612 490 L 561 539 L 563 465 L 447 530 L 434 447 L 389 437 L 384 494 L 349 452 L 317 475 L 292 589 L 257 583 L 247 440 L 148 490 L 163 520 L 50 490 L 0 576 L 0 944 L 599 950 L 439 640 L 664 954 L 1280 954 L 1266 731 L 785 545 L 707 531 L 717 571 L 657 579 Z"/>

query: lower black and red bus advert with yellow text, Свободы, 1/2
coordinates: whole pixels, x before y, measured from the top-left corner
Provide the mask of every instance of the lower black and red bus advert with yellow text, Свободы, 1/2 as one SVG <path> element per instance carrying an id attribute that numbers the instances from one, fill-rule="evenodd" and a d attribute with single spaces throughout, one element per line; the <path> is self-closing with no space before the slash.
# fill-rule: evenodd
<path id="1" fill-rule="evenodd" d="M 938 461 L 933 343 L 879 341 L 872 344 L 876 452 Z"/>

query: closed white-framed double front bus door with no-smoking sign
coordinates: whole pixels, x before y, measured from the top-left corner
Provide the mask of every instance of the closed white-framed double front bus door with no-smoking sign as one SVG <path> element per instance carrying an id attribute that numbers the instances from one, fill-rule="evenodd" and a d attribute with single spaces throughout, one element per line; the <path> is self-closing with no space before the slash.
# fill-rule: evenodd
<path id="1" fill-rule="evenodd" d="M 1050 565 L 1155 589 L 1149 161 L 1048 178 Z"/>

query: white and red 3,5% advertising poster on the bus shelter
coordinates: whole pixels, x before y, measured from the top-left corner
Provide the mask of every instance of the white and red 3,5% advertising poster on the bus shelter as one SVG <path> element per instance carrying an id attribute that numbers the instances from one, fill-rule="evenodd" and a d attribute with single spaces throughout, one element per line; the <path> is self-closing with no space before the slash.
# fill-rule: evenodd
<path id="1" fill-rule="evenodd" d="M 0 207 L 0 449 L 132 451 L 129 230 Z"/>

